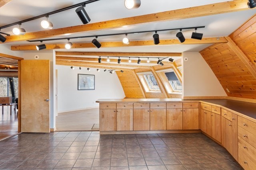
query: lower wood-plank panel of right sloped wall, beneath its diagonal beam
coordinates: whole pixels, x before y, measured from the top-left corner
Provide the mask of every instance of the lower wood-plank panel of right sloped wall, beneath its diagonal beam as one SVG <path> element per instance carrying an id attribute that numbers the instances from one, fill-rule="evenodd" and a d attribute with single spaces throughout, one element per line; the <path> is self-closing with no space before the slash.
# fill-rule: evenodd
<path id="1" fill-rule="evenodd" d="M 227 43 L 200 51 L 228 96 L 256 99 L 256 79 Z M 226 52 L 222 52 L 222 50 Z M 229 52 L 228 52 L 229 51 Z M 216 55 L 220 54 L 221 55 Z M 227 92 L 226 88 L 230 92 Z"/>

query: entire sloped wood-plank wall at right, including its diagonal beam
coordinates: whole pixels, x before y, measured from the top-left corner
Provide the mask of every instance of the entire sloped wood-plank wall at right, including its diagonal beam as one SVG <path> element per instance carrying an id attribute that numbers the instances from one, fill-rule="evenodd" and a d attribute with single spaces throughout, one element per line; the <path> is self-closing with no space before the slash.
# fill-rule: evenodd
<path id="1" fill-rule="evenodd" d="M 256 99 L 256 15 L 227 39 L 200 53 L 228 96 Z"/>

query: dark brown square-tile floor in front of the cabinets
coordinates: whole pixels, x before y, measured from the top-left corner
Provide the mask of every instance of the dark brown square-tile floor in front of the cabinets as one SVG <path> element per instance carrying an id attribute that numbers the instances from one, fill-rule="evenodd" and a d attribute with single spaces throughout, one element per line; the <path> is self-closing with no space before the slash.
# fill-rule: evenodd
<path id="1" fill-rule="evenodd" d="M 241 170 L 202 133 L 22 133 L 0 141 L 0 169 Z"/>

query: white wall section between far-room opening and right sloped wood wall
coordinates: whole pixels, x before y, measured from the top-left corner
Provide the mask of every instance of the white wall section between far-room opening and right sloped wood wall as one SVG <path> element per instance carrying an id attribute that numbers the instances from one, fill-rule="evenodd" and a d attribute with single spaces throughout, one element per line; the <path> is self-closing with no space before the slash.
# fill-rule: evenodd
<path id="1" fill-rule="evenodd" d="M 182 62 L 183 96 L 227 96 L 200 53 L 185 52 Z"/>

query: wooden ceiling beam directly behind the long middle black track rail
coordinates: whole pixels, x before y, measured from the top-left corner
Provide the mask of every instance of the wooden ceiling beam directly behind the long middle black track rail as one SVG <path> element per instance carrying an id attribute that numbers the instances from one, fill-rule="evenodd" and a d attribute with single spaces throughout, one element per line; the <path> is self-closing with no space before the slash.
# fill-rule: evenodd
<path id="1" fill-rule="evenodd" d="M 163 39 L 160 40 L 158 45 L 191 45 L 191 44 L 211 44 L 211 43 L 227 43 L 224 37 L 210 37 L 198 39 L 186 39 L 184 43 L 180 43 L 178 39 Z M 101 48 L 104 47 L 132 47 L 132 46 L 148 46 L 155 45 L 153 40 L 146 41 L 130 41 L 129 44 L 124 44 L 123 42 L 102 42 Z M 96 48 L 92 43 L 73 43 L 72 49 L 76 48 Z M 46 44 L 47 50 L 52 49 L 65 49 L 65 44 Z M 36 45 L 12 45 L 12 51 L 22 51 L 22 50 L 36 50 Z"/>

